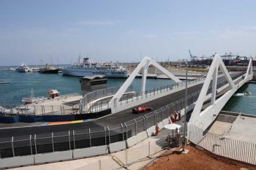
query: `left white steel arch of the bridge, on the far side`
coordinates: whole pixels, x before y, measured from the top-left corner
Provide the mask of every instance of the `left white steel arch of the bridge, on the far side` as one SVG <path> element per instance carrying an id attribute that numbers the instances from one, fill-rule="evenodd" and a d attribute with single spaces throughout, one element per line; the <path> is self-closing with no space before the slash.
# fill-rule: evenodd
<path id="1" fill-rule="evenodd" d="M 135 77 L 138 75 L 141 69 L 143 69 L 142 74 L 142 83 L 141 83 L 141 92 L 145 93 L 146 89 L 146 75 L 148 73 L 148 66 L 153 65 L 157 69 L 159 69 L 160 72 L 165 74 L 167 77 L 169 77 L 171 80 L 175 82 L 181 82 L 175 75 L 173 75 L 171 72 L 167 71 L 164 67 L 160 66 L 159 63 L 156 61 L 153 61 L 151 58 L 144 57 L 142 61 L 140 61 L 139 65 L 136 67 L 136 69 L 132 72 L 132 74 L 127 78 L 127 80 L 124 82 L 124 84 L 119 88 L 119 90 L 116 92 L 115 96 L 111 99 L 110 103 L 113 103 L 114 100 L 119 101 L 121 96 L 124 95 L 127 88 L 129 88 L 129 85 L 132 84 L 132 81 L 135 79 Z"/>

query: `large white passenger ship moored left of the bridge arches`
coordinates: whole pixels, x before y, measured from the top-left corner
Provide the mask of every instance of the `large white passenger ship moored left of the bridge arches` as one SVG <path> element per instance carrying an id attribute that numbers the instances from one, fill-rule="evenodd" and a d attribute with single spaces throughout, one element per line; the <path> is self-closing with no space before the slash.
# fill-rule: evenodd
<path id="1" fill-rule="evenodd" d="M 118 63 L 94 63 L 89 60 L 89 58 L 83 58 L 83 63 L 78 63 L 64 67 L 63 75 L 69 76 L 94 76 L 94 75 L 104 75 L 107 78 L 127 78 L 129 77 L 129 72 L 122 66 L 118 66 Z"/>

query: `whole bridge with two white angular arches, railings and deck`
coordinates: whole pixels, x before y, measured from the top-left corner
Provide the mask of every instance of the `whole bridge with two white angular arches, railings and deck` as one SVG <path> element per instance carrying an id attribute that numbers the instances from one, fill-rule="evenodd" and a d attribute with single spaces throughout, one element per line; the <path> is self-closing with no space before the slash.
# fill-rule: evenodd
<path id="1" fill-rule="evenodd" d="M 156 67 L 156 69 L 175 83 L 146 90 L 146 75 L 149 66 Z M 140 93 L 135 93 L 132 92 L 129 87 L 131 87 L 132 81 L 140 71 L 142 71 L 141 90 Z M 187 109 L 189 111 L 193 110 L 189 122 L 206 130 L 208 125 L 211 125 L 215 120 L 230 97 L 236 93 L 236 90 L 241 88 L 244 83 L 252 80 L 252 77 L 252 59 L 249 61 L 246 72 L 229 73 L 227 72 L 222 58 L 219 55 L 215 55 L 207 76 L 197 77 L 196 80 L 188 82 L 187 89 L 189 97 L 186 101 L 188 101 L 193 94 L 197 93 L 198 96 L 198 93 L 200 93 L 196 100 L 193 98 L 192 102 L 188 102 L 189 106 L 187 106 Z M 131 112 L 131 108 L 136 106 L 150 106 L 154 109 L 158 109 L 173 101 L 184 98 L 184 90 L 185 81 L 179 80 L 175 75 L 151 58 L 143 58 L 121 88 L 97 90 L 96 92 L 84 96 L 80 101 L 80 113 L 109 112 L 110 114 L 128 114 Z M 219 97 L 217 98 L 217 96 Z M 203 104 L 209 100 L 211 102 L 208 104 L 208 107 L 202 110 Z M 184 112 L 181 112 L 181 114 L 183 115 Z"/>

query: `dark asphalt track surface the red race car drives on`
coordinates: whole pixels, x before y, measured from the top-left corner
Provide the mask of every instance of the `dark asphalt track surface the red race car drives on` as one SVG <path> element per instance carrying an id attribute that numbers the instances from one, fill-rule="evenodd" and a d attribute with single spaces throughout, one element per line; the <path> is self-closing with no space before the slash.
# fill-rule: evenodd
<path id="1" fill-rule="evenodd" d="M 230 74 L 231 77 L 235 77 L 237 74 L 241 72 L 236 72 Z M 203 86 L 203 83 L 200 85 L 192 86 L 188 88 L 188 95 L 197 92 Z M 153 107 L 154 109 L 159 109 L 167 104 L 172 103 L 173 101 L 178 101 L 184 97 L 185 90 L 180 90 L 176 93 L 171 93 L 168 96 L 164 96 L 162 98 L 157 98 L 154 101 L 148 101 L 143 104 L 145 107 Z M 121 112 L 118 112 L 113 115 L 108 115 L 107 117 L 99 118 L 98 120 L 94 120 L 91 122 L 85 123 L 71 123 L 64 125 L 40 125 L 33 127 L 19 127 L 19 128 L 2 128 L 0 129 L 0 138 L 10 137 L 10 136 L 26 136 L 33 134 L 46 134 L 46 133 L 54 133 L 58 131 L 72 131 L 78 129 L 88 129 L 88 128 L 97 128 L 107 125 L 118 125 L 120 123 L 127 122 L 129 120 L 135 119 L 136 117 L 140 117 L 142 115 L 146 115 L 148 112 L 140 113 L 140 114 L 132 114 L 132 109 L 127 109 Z"/>

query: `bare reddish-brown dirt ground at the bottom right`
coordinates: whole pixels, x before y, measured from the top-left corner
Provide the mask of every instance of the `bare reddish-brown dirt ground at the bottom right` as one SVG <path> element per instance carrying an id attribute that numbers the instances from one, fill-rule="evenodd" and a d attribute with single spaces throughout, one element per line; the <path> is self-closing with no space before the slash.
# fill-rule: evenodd
<path id="1" fill-rule="evenodd" d="M 221 158 L 206 150 L 199 150 L 192 146 L 187 146 L 187 150 L 189 150 L 188 154 L 167 150 L 145 170 L 256 170 L 256 166 Z"/>

